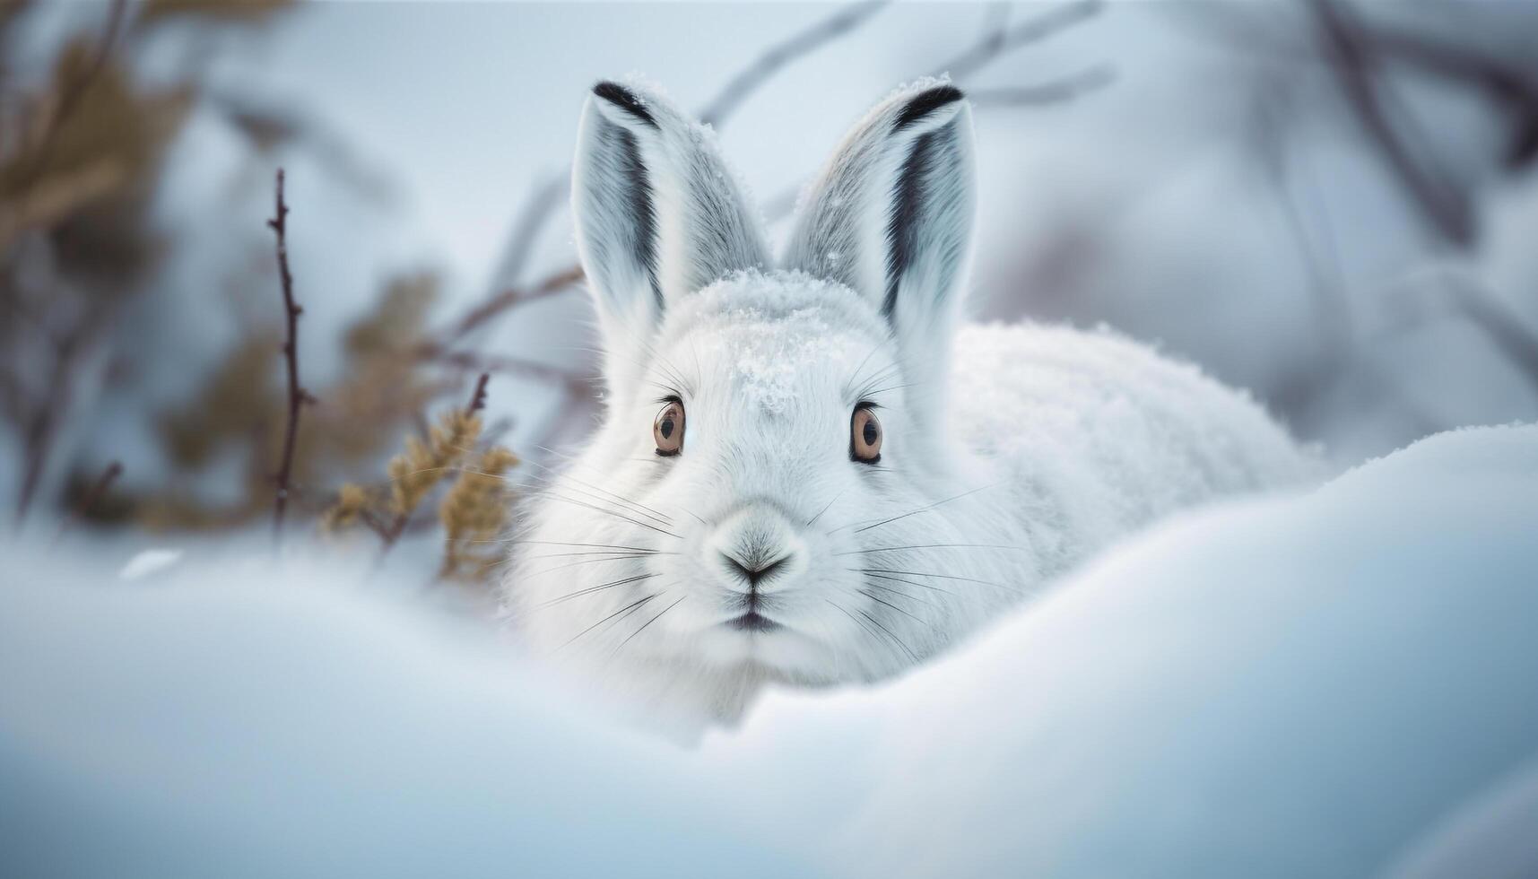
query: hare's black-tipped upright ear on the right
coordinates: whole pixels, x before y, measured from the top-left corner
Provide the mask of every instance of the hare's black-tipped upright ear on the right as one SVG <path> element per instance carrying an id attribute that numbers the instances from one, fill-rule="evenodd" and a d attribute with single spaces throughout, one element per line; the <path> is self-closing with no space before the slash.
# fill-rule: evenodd
<path id="1" fill-rule="evenodd" d="M 921 86 L 877 105 L 812 185 L 786 268 L 837 280 L 891 322 L 914 371 L 943 368 L 972 239 L 972 112 Z"/>

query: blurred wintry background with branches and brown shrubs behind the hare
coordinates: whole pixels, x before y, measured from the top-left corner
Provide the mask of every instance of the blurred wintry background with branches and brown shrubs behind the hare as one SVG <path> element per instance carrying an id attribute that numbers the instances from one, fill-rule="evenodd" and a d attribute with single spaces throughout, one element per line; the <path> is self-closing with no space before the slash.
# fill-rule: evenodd
<path id="1" fill-rule="evenodd" d="M 566 169 L 626 74 L 775 236 L 866 108 L 949 74 L 974 314 L 1157 342 L 1340 468 L 1538 419 L 1538 3 L 5 0 L 0 522 L 494 576 L 597 413 Z"/>

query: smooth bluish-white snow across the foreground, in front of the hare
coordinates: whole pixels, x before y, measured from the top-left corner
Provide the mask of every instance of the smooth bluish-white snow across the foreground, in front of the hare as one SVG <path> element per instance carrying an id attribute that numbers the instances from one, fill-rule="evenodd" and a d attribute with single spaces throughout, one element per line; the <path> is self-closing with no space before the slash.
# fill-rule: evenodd
<path id="1" fill-rule="evenodd" d="M 0 873 L 1530 874 L 1535 522 L 1538 426 L 1440 434 L 697 750 L 355 571 L 12 546 Z"/>

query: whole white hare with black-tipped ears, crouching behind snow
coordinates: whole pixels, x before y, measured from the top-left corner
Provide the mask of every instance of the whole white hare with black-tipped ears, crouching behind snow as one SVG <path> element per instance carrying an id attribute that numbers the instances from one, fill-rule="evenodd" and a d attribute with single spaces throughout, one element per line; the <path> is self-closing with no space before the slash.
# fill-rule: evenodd
<path id="1" fill-rule="evenodd" d="M 894 674 L 1164 513 L 1306 477 L 1189 365 L 958 328 L 972 191 L 963 94 L 909 86 L 775 263 L 707 128 L 594 88 L 572 208 L 606 414 L 528 513 L 504 585 L 526 643 L 732 717 L 766 682 Z"/>

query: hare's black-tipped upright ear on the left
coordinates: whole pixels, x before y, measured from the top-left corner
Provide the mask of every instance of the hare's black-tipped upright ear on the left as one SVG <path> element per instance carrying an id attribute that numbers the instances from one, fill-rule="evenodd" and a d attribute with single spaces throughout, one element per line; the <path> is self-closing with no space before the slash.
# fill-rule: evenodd
<path id="1" fill-rule="evenodd" d="M 577 249 L 615 371 L 643 360 L 678 297 L 767 263 L 763 231 L 712 132 L 666 99 L 594 86 L 572 165 Z"/>

